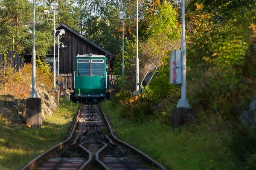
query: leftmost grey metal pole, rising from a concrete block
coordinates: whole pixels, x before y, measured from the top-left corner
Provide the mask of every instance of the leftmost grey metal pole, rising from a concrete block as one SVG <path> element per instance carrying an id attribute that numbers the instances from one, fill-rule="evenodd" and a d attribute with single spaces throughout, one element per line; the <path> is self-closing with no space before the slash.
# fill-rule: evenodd
<path id="1" fill-rule="evenodd" d="M 38 98 L 35 91 L 35 0 L 33 0 L 33 51 L 32 51 L 32 92 L 31 98 Z"/>

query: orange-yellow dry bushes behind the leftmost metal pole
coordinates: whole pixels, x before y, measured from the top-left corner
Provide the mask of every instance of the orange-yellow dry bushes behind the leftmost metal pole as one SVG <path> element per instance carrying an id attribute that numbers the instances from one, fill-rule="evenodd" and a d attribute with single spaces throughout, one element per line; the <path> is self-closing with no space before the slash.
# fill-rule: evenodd
<path id="1" fill-rule="evenodd" d="M 4 61 L 5 66 L 0 69 L 0 94 L 10 94 L 15 98 L 29 97 L 32 84 L 32 64 L 24 64 L 20 71 L 14 71 L 12 61 Z M 44 84 L 47 91 L 52 88 L 53 74 L 49 64 L 37 60 L 36 83 Z"/>

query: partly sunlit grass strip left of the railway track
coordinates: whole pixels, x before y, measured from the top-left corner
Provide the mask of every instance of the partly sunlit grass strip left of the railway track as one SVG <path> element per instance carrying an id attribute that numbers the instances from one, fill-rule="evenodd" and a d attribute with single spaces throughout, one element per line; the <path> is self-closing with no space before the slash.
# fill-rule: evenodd
<path id="1" fill-rule="evenodd" d="M 61 100 L 53 116 L 46 116 L 41 130 L 0 121 L 0 169 L 18 170 L 65 139 L 78 104 Z"/>

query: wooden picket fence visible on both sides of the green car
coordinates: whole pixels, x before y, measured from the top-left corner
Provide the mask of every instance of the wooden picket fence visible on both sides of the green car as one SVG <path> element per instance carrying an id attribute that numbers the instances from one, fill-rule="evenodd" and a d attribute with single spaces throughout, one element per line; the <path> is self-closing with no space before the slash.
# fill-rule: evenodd
<path id="1" fill-rule="evenodd" d="M 108 75 L 107 77 L 107 90 L 118 88 L 117 84 L 117 76 L 116 75 Z M 60 74 L 60 87 L 61 89 L 68 88 L 70 90 L 73 89 L 73 74 Z"/>

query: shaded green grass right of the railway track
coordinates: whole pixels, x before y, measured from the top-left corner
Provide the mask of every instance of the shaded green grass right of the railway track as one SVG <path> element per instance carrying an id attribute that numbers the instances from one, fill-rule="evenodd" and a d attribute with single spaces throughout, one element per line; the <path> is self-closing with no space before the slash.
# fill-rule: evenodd
<path id="1" fill-rule="evenodd" d="M 175 132 L 160 119 L 132 123 L 119 115 L 111 101 L 102 103 L 117 136 L 172 170 L 234 170 L 233 156 L 225 141 L 227 131 L 193 132 L 183 127 Z M 198 127 L 199 128 L 199 127 Z M 196 131 L 196 130 L 195 130 Z"/>

